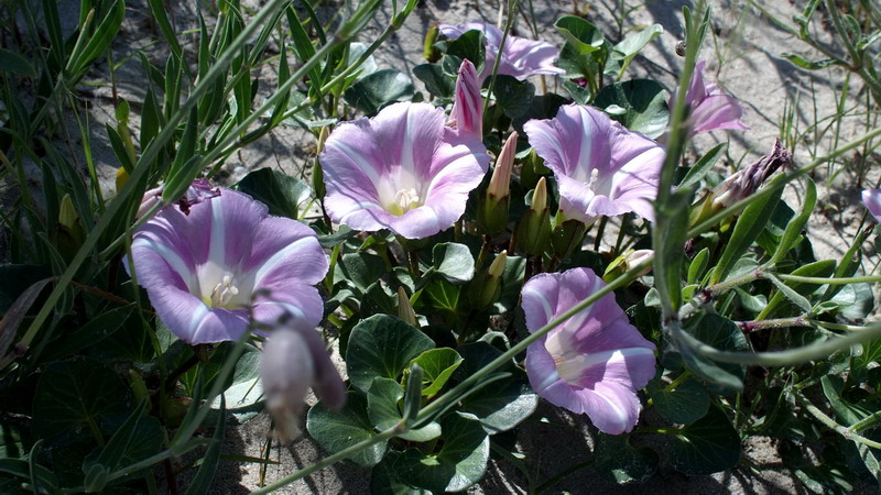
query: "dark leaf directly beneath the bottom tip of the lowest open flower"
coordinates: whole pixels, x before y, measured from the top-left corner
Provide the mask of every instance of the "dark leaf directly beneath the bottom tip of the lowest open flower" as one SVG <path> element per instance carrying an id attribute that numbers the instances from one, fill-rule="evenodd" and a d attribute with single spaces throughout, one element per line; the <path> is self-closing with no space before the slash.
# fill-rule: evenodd
<path id="1" fill-rule="evenodd" d="M 594 471 L 619 485 L 643 483 L 657 471 L 657 454 L 651 449 L 635 449 L 630 436 L 597 436 Z"/>

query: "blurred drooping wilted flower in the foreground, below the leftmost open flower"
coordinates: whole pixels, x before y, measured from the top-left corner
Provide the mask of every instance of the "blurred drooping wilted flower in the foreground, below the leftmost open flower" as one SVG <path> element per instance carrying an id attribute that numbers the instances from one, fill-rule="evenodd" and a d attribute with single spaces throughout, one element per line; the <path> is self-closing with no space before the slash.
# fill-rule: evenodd
<path id="1" fill-rule="evenodd" d="M 345 385 L 324 342 L 302 320 L 272 332 L 263 345 L 260 380 L 275 432 L 285 441 L 300 431 L 300 413 L 309 387 L 331 409 L 339 409 L 346 402 Z"/>

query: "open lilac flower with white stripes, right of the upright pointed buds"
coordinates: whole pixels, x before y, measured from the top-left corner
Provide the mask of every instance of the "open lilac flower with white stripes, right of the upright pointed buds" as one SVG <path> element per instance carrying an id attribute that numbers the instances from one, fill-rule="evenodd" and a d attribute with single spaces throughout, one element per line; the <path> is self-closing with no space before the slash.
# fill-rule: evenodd
<path id="1" fill-rule="evenodd" d="M 555 118 L 531 120 L 523 130 L 554 170 L 565 219 L 589 224 L 628 212 L 654 219 L 664 163 L 660 144 L 580 105 L 561 107 Z"/>

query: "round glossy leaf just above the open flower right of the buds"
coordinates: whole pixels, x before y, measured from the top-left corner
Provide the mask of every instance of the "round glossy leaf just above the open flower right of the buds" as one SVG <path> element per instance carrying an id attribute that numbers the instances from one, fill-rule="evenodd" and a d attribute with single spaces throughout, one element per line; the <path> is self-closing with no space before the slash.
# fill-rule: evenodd
<path id="1" fill-rule="evenodd" d="M 610 117 L 629 130 L 642 132 L 649 138 L 663 134 L 670 121 L 666 91 L 651 79 L 633 79 L 606 86 L 597 95 L 594 105 L 607 111 L 612 106 L 623 109 L 622 113 Z"/>

